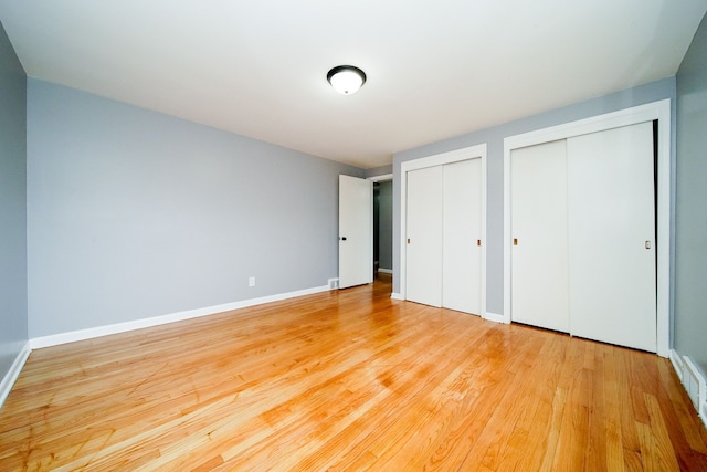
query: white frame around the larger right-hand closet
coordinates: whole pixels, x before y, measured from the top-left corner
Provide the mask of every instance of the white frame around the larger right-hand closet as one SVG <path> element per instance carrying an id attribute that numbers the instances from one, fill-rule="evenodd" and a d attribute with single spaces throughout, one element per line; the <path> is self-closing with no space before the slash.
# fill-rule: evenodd
<path id="1" fill-rule="evenodd" d="M 510 323 L 510 153 L 514 149 L 567 139 L 589 133 L 603 132 L 621 126 L 635 125 L 644 122 L 658 122 L 657 127 L 657 354 L 669 356 L 671 339 L 671 99 L 663 99 L 646 105 L 635 106 L 619 112 L 593 116 L 577 122 L 538 129 L 530 133 L 509 136 L 504 139 L 504 314 L 503 323 Z"/>

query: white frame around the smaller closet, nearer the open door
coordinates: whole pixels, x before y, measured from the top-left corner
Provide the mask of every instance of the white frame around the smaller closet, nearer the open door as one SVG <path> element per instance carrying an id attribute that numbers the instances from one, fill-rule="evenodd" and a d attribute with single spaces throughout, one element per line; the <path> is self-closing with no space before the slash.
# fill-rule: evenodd
<path id="1" fill-rule="evenodd" d="M 408 241 L 408 172 L 412 170 L 423 169 L 425 167 L 442 166 L 445 164 L 458 162 L 467 159 L 482 159 L 482 317 L 486 317 L 486 144 L 469 146 L 462 149 L 455 149 L 447 153 L 435 154 L 432 156 L 421 157 L 419 159 L 408 160 L 400 166 L 400 294 L 395 298 L 407 300 L 407 270 L 405 263 L 407 241 Z"/>

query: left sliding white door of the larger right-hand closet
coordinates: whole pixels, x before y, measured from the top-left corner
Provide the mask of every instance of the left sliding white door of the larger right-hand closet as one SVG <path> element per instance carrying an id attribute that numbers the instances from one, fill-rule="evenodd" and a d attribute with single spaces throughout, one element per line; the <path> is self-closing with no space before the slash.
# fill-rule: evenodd
<path id="1" fill-rule="evenodd" d="M 511 317 L 569 332 L 566 141 L 510 155 Z"/>

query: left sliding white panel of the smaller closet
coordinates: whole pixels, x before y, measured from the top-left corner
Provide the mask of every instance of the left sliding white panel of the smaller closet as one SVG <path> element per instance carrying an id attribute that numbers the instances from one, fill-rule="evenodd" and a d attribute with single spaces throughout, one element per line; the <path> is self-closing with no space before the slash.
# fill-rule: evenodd
<path id="1" fill-rule="evenodd" d="M 442 167 L 408 172 L 405 298 L 442 306 Z"/>

